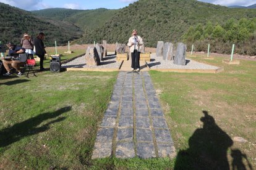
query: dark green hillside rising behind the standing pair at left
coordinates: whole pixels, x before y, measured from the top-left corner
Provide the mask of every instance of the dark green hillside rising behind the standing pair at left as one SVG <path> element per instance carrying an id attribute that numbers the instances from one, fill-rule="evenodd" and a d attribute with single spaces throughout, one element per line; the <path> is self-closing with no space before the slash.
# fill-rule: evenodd
<path id="1" fill-rule="evenodd" d="M 69 40 L 78 39 L 83 31 L 69 23 L 58 20 L 41 20 L 31 12 L 11 7 L 0 3 L 0 41 L 20 43 L 23 33 L 28 33 L 35 37 L 41 31 L 46 34 L 46 46 L 54 46 L 54 41 L 58 45 L 65 44 Z"/>

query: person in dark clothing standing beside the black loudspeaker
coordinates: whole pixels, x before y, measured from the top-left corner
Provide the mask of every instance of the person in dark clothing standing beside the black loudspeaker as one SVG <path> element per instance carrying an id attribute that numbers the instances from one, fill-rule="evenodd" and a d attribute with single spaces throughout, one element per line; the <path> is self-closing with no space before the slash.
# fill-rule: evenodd
<path id="1" fill-rule="evenodd" d="M 45 39 L 45 34 L 39 33 L 34 41 L 36 55 L 40 58 L 40 71 L 45 71 L 45 68 L 43 68 L 43 59 L 45 58 L 45 54 L 47 54 L 45 51 L 45 44 L 43 44 L 43 39 Z"/>

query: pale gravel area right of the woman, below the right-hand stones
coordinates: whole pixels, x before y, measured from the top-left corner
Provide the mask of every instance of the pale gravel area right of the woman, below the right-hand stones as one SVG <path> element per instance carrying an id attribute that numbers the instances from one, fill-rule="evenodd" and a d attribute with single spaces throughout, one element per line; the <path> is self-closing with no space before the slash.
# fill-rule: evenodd
<path id="1" fill-rule="evenodd" d="M 207 65 L 205 63 L 195 62 L 191 59 L 186 59 L 186 65 L 176 65 L 172 61 L 163 60 L 163 57 L 156 57 L 156 54 L 150 55 L 151 62 L 147 62 L 150 68 L 166 68 L 166 69 L 201 69 L 201 70 L 216 70 L 219 67 Z"/>

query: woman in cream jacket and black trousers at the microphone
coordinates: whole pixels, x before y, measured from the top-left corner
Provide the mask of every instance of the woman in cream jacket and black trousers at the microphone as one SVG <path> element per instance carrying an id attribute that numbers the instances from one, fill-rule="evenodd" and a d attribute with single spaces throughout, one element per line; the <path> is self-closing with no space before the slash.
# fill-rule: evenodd
<path id="1" fill-rule="evenodd" d="M 132 71 L 140 71 L 140 49 L 143 45 L 143 40 L 137 35 L 137 30 L 132 30 L 132 36 L 129 38 L 127 46 L 130 47 L 132 55 Z"/>

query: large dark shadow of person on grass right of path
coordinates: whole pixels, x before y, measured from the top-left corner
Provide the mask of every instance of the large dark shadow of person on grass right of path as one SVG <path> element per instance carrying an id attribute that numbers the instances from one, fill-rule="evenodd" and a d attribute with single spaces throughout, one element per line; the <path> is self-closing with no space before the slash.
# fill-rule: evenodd
<path id="1" fill-rule="evenodd" d="M 174 169 L 229 169 L 227 150 L 233 140 L 203 111 L 203 127 L 189 138 L 189 148 L 177 153 Z"/>

